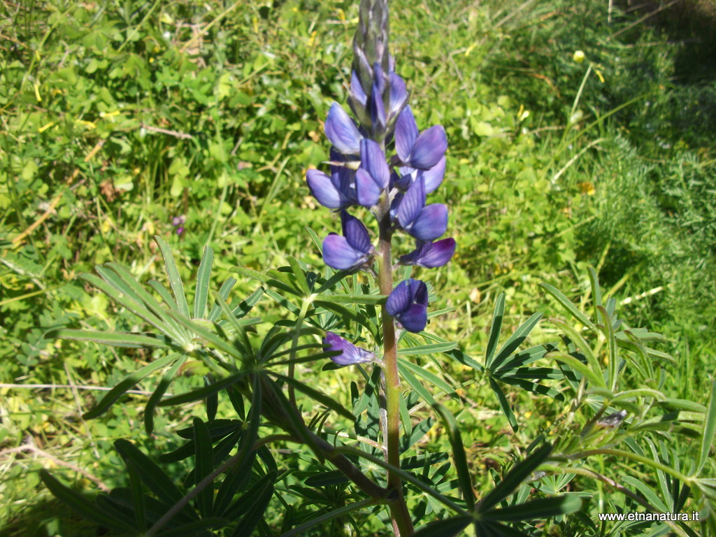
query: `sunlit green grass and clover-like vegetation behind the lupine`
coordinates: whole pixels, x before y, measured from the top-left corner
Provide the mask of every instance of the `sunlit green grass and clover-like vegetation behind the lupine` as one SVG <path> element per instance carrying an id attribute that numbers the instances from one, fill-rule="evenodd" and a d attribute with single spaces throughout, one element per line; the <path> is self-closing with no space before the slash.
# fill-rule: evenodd
<path id="1" fill-rule="evenodd" d="M 518 326 L 533 311 L 556 313 L 540 281 L 582 296 L 593 265 L 628 324 L 669 339 L 677 367 L 664 390 L 705 402 L 716 341 L 713 5 L 394 0 L 391 9 L 418 124 L 440 123 L 450 140 L 436 194 L 451 206 L 458 253 L 435 286 L 453 311 L 431 329 L 479 352 L 500 291 Z M 160 274 L 155 234 L 172 241 L 185 280 L 206 243 L 222 280 L 236 264 L 275 267 L 288 255 L 320 266 L 304 227 L 322 235 L 335 223 L 314 211 L 304 173 L 326 160 L 321 121 L 346 99 L 357 2 L 3 1 L 0 10 L 0 535 L 81 535 L 37 470 L 60 466 L 78 489 L 95 475 L 117 485 L 113 440 L 175 442 L 172 429 L 190 416 L 160 415 L 153 437 L 140 434 L 137 386 L 136 404 L 84 422 L 97 398 L 85 388 L 111 386 L 148 357 L 44 334 L 138 329 L 77 276 L 107 261 L 140 279 Z M 487 468 L 509 449 L 506 424 L 487 387 L 465 396 L 470 455 Z M 524 405 L 525 438 L 561 412 Z"/>

